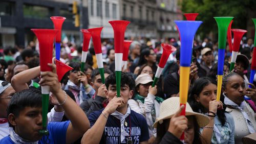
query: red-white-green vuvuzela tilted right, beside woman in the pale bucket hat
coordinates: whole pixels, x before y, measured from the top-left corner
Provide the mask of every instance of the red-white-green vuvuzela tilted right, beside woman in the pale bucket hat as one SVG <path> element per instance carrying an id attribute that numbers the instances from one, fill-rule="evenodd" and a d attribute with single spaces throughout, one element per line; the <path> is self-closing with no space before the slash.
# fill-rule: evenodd
<path id="1" fill-rule="evenodd" d="M 173 45 L 169 45 L 167 43 L 162 43 L 161 44 L 162 48 L 163 48 L 163 53 L 162 56 L 160 58 L 158 67 L 157 67 L 157 71 L 156 71 L 156 75 L 152 84 L 152 87 L 154 87 L 157 84 L 158 79 L 160 78 L 163 68 L 168 60 L 168 57 L 171 53 L 173 53 L 174 51 L 176 51 L 176 48 Z"/>

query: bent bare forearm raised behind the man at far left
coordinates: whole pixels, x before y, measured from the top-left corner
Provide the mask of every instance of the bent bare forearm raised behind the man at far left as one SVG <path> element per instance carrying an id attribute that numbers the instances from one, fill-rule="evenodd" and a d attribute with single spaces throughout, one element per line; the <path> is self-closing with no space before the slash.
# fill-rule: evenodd
<path id="1" fill-rule="evenodd" d="M 12 87 L 16 92 L 29 89 L 27 82 L 40 75 L 40 66 L 24 70 L 14 75 L 11 80 Z"/>

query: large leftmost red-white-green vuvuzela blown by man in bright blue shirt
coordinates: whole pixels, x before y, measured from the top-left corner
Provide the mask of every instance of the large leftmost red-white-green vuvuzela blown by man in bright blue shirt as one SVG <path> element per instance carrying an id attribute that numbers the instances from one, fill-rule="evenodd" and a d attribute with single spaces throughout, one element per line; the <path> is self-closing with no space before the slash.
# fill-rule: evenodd
<path id="1" fill-rule="evenodd" d="M 39 58 L 40 58 L 40 70 L 52 71 L 52 68 L 48 63 L 52 63 L 52 51 L 53 41 L 59 30 L 52 29 L 31 29 L 38 39 L 39 42 Z M 41 86 L 42 93 L 42 129 L 39 131 L 40 134 L 49 134 L 47 130 L 47 113 L 49 105 L 49 93 L 50 86 Z"/>

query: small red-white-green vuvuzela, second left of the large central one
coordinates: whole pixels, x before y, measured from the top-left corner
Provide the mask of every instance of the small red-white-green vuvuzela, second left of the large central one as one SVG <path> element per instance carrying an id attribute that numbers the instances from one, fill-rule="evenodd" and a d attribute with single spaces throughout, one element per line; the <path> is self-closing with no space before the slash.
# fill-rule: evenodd
<path id="1" fill-rule="evenodd" d="M 88 54 L 91 33 L 86 29 L 82 29 L 80 31 L 83 34 L 82 58 L 81 58 L 81 71 L 83 71 L 84 64 L 86 63 L 86 58 L 87 58 L 87 54 Z"/>

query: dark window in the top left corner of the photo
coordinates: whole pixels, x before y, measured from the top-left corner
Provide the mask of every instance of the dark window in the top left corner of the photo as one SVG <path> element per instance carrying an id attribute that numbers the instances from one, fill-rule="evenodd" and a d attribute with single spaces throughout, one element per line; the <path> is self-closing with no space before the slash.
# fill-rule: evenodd
<path id="1" fill-rule="evenodd" d="M 0 15 L 14 16 L 14 3 L 0 2 Z"/>

